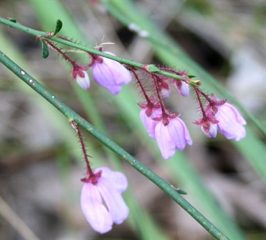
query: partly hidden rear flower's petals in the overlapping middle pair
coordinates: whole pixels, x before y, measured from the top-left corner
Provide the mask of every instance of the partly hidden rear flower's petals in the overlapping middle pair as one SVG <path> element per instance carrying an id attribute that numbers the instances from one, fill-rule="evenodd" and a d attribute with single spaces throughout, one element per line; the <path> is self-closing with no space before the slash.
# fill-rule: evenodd
<path id="1" fill-rule="evenodd" d="M 153 109 L 153 113 L 150 116 L 147 116 L 146 110 L 147 109 L 142 109 L 140 111 L 140 119 L 147 129 L 149 136 L 155 139 L 155 126 L 158 121 L 153 120 L 153 118 L 159 118 L 162 116 L 162 109 Z"/>

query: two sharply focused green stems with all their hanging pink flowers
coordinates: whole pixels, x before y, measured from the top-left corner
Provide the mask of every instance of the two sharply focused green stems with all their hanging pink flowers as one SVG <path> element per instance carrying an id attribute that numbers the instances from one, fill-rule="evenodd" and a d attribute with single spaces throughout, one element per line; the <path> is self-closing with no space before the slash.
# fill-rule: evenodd
<path id="1" fill-rule="evenodd" d="M 143 121 L 149 136 L 157 141 L 162 157 L 165 159 L 174 156 L 175 149 L 182 151 L 187 144 L 192 145 L 192 138 L 189 135 L 184 121 L 179 118 L 180 114 L 172 113 L 165 107 L 164 99 L 170 97 L 171 85 L 184 97 L 189 95 L 189 90 L 194 92 L 201 111 L 199 120 L 195 121 L 195 124 L 201 126 L 206 136 L 215 138 L 217 131 L 220 131 L 226 138 L 235 139 L 236 141 L 245 137 L 245 129 L 243 127 L 243 125 L 245 125 L 245 120 L 240 116 L 235 107 L 228 104 L 226 99 L 217 99 L 214 94 L 206 94 L 203 92 L 200 88 L 201 82 L 199 80 L 193 80 L 194 76 L 189 75 L 185 71 L 174 70 L 170 67 L 143 65 L 138 62 L 118 58 L 112 53 L 105 53 L 102 48 L 94 50 L 72 43 L 71 40 L 57 35 L 62 28 L 61 21 L 57 21 L 53 33 L 34 31 L 31 28 L 13 23 L 13 21 L 7 21 L 4 18 L 1 18 L 1 22 L 35 35 L 42 43 L 43 58 L 48 58 L 48 48 L 52 48 L 52 50 L 62 55 L 62 57 L 72 65 L 73 80 L 83 89 L 89 89 L 90 80 L 87 75 L 87 70 L 90 68 L 92 68 L 92 75 L 95 82 L 109 90 L 111 94 L 118 94 L 123 84 L 129 84 L 129 82 L 134 79 L 140 88 L 144 101 L 138 104 L 141 108 L 140 119 Z M 69 55 L 67 55 L 67 51 L 57 48 L 56 42 L 86 52 L 91 60 L 89 65 L 84 66 L 72 60 Z M 143 175 L 153 180 L 155 184 L 161 187 L 162 190 L 165 190 L 165 192 L 184 207 L 184 209 L 194 209 L 179 195 L 179 193 L 182 193 L 182 190 L 173 187 L 148 170 L 148 168 L 145 168 L 138 160 L 135 160 L 126 153 L 126 151 L 123 151 L 122 148 L 109 141 L 108 138 L 94 129 L 87 121 L 67 108 L 65 104 L 62 104 L 57 97 L 50 94 L 47 89 L 28 75 L 26 71 L 12 62 L 4 53 L 0 55 L 1 62 L 6 65 L 6 67 L 9 67 L 12 72 L 18 75 L 18 77 L 24 80 L 29 86 L 35 89 L 36 92 L 57 107 L 57 109 L 67 117 L 68 121 L 70 121 L 70 124 L 77 132 L 82 146 L 82 152 L 84 153 L 84 160 L 87 163 L 87 175 L 85 178 L 82 178 L 84 182 L 81 201 L 82 210 L 95 231 L 99 231 L 100 233 L 110 231 L 113 222 L 120 224 L 128 216 L 129 209 L 121 197 L 121 193 L 126 190 L 127 180 L 126 175 L 123 173 L 113 172 L 106 167 L 92 170 L 89 157 L 84 148 L 84 140 L 79 126 L 89 131 L 89 133 L 95 136 L 104 145 L 115 151 L 118 156 L 121 156 L 121 158 L 133 165 L 133 167 L 143 173 Z M 149 89 L 146 86 L 146 82 L 150 82 L 148 86 Z M 108 209 L 102 204 L 103 200 L 106 202 Z M 118 205 L 116 205 L 117 203 Z M 226 239 L 226 236 L 221 234 L 221 232 L 207 219 L 201 216 L 196 209 L 194 209 L 193 212 L 189 212 L 192 214 L 192 217 L 198 220 L 201 225 L 208 229 L 217 239 Z M 95 218 L 95 216 L 99 216 L 99 218 Z M 204 219 L 204 221 L 202 221 L 202 219 Z"/>

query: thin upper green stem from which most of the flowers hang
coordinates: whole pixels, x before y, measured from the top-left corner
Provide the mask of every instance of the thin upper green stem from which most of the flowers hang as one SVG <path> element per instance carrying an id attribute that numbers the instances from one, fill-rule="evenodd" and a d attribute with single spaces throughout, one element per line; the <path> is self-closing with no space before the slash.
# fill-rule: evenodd
<path id="1" fill-rule="evenodd" d="M 186 79 L 184 79 L 184 77 L 182 77 L 182 76 L 175 75 L 175 74 L 170 73 L 170 72 L 165 72 L 165 71 L 162 71 L 162 70 L 159 70 L 159 69 L 154 70 L 155 69 L 154 65 L 145 65 L 145 64 L 142 64 L 142 63 L 139 63 L 139 62 L 134 62 L 134 61 L 131 61 L 131 60 L 127 60 L 125 58 L 119 58 L 117 56 L 110 55 L 110 54 L 107 54 L 107 53 L 103 53 L 103 52 L 100 52 L 100 51 L 92 49 L 92 48 L 84 47 L 84 46 L 79 45 L 77 43 L 72 43 L 70 40 L 65 40 L 65 39 L 62 39 L 62 38 L 58 38 L 56 36 L 55 37 L 50 37 L 49 33 L 42 32 L 42 31 L 37 31 L 37 30 L 34 30 L 32 28 L 28 28 L 26 26 L 18 24 L 18 23 L 13 23 L 13 21 L 6 20 L 5 18 L 1 18 L 0 17 L 0 23 L 4 23 L 6 26 L 10 26 L 11 28 L 17 28 L 17 29 L 19 29 L 21 31 L 24 31 L 26 33 L 34 35 L 34 36 L 36 36 L 38 38 L 47 38 L 47 39 L 55 41 L 57 43 L 62 43 L 64 45 L 70 46 L 72 48 L 77 48 L 79 50 L 83 50 L 83 51 L 85 51 L 87 53 L 91 53 L 91 54 L 94 54 L 94 55 L 99 55 L 99 56 L 102 56 L 104 58 L 109 58 L 111 60 L 115 60 L 117 62 L 121 62 L 122 64 L 125 64 L 125 65 L 131 65 L 133 67 L 138 67 L 140 69 L 148 69 L 148 71 L 149 71 L 149 69 L 153 69 L 153 72 L 155 72 L 155 73 L 157 73 L 159 75 L 164 75 L 164 76 L 167 76 L 167 77 L 170 77 L 170 78 L 174 78 L 174 79 L 177 79 L 177 80 L 186 81 Z M 194 84 L 193 81 L 190 82 L 190 84 L 192 84 L 194 87 L 196 87 L 196 84 Z"/>

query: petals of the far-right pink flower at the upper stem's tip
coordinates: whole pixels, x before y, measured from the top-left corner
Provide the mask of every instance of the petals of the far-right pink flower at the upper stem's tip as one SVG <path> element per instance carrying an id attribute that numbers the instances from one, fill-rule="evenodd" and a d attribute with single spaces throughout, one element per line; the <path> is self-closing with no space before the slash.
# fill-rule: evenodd
<path id="1" fill-rule="evenodd" d="M 247 124 L 243 116 L 241 116 L 233 105 L 227 102 L 221 106 L 216 105 L 218 111 L 215 118 L 218 122 L 218 131 L 228 139 L 235 139 L 240 141 L 245 138 L 245 128 L 243 125 Z"/>

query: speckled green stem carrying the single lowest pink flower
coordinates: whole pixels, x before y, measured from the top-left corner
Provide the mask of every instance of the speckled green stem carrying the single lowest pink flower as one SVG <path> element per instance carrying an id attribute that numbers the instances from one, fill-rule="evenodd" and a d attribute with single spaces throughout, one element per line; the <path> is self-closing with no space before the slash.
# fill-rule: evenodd
<path id="1" fill-rule="evenodd" d="M 15 62 L 9 59 L 4 53 L 0 51 L 0 62 L 2 62 L 11 72 L 17 75 L 23 82 L 28 84 L 35 92 L 38 92 L 43 98 L 45 98 L 52 106 L 57 108 L 62 114 L 66 116 L 68 121 L 75 121 L 79 126 L 81 126 L 85 131 L 90 133 L 94 138 L 99 140 L 104 144 L 107 148 L 111 149 L 118 156 L 126 160 L 127 163 L 133 166 L 140 173 L 145 175 L 146 178 L 155 183 L 160 189 L 167 193 L 177 204 L 179 204 L 185 211 L 187 211 L 194 219 L 196 219 L 199 224 L 201 224 L 204 229 L 209 231 L 211 235 L 213 235 L 216 239 L 228 239 L 220 230 L 218 230 L 214 224 L 211 224 L 206 217 L 204 217 L 198 210 L 196 210 L 187 200 L 185 200 L 177 190 L 170 185 L 169 182 L 160 178 L 156 175 L 152 170 L 147 168 L 145 165 L 140 163 L 138 160 L 133 158 L 128 152 L 126 152 L 123 148 L 118 146 L 116 143 L 111 141 L 111 139 L 107 138 L 103 133 L 95 129 L 92 124 L 89 124 L 88 121 L 83 119 L 77 113 L 75 113 L 70 107 L 67 107 L 63 102 L 60 101 L 54 94 L 52 94 L 48 89 L 45 89 L 43 85 L 41 85 L 38 81 L 36 81 L 31 75 L 28 75 L 26 71 L 21 69 Z"/>

